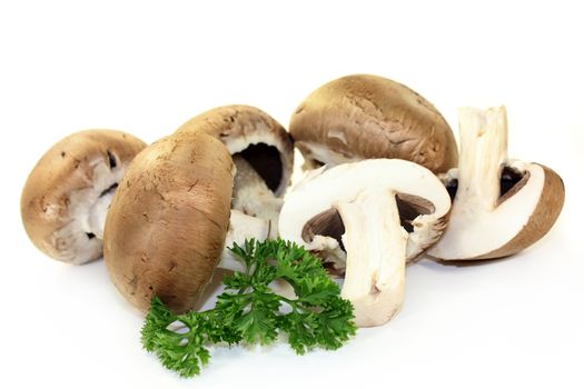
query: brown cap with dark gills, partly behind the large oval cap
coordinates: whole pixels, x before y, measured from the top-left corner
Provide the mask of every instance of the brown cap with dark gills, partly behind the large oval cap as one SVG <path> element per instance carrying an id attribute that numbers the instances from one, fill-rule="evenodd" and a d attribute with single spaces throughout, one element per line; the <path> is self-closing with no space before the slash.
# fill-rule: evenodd
<path id="1" fill-rule="evenodd" d="M 284 194 L 294 168 L 294 143 L 269 114 L 249 106 L 218 107 L 196 116 L 177 130 L 191 131 L 204 131 L 221 140 L 231 154 L 241 153 L 276 196 Z M 268 147 L 276 148 L 277 153 Z"/>

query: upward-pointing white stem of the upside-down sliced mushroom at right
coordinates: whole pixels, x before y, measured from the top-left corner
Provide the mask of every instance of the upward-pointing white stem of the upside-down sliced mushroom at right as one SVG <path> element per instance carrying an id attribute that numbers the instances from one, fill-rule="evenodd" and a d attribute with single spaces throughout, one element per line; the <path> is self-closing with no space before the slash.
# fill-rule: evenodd
<path id="1" fill-rule="evenodd" d="M 462 147 L 454 203 L 493 210 L 499 198 L 501 169 L 507 159 L 505 108 L 462 108 L 458 118 Z"/>

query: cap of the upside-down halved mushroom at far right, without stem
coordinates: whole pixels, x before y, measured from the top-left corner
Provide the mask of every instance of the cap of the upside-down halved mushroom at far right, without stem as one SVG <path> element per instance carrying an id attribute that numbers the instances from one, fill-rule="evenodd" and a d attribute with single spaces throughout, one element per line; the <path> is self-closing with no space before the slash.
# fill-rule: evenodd
<path id="1" fill-rule="evenodd" d="M 522 179 L 503 194 L 493 209 L 457 203 L 442 240 L 428 255 L 443 260 L 481 260 L 512 256 L 543 238 L 557 220 L 564 205 L 562 178 L 540 163 L 508 161 L 506 168 Z M 503 169 L 502 169 L 503 170 Z M 457 169 L 444 178 L 456 179 Z"/>

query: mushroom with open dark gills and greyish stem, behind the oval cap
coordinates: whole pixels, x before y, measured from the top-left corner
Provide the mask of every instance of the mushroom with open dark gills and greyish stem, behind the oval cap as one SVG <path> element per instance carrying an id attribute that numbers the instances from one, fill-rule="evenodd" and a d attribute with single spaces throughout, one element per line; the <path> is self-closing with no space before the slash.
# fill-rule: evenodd
<path id="1" fill-rule="evenodd" d="M 192 131 L 206 132 L 225 143 L 237 168 L 231 208 L 266 220 L 270 237 L 276 237 L 281 196 L 294 166 L 288 132 L 266 112 L 248 106 L 211 109 L 177 130 Z"/>

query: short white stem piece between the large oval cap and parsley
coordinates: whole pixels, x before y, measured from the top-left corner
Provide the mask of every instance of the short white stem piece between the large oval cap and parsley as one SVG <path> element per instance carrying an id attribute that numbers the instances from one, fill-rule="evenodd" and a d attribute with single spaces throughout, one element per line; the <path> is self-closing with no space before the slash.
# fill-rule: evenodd
<path id="1" fill-rule="evenodd" d="M 265 240 L 270 235 L 270 228 L 268 220 L 231 210 L 229 230 L 225 238 L 225 249 L 221 253 L 221 261 L 217 267 L 234 271 L 245 271 L 244 263 L 238 261 L 227 248 L 232 247 L 234 243 L 242 246 L 246 239 Z"/>

